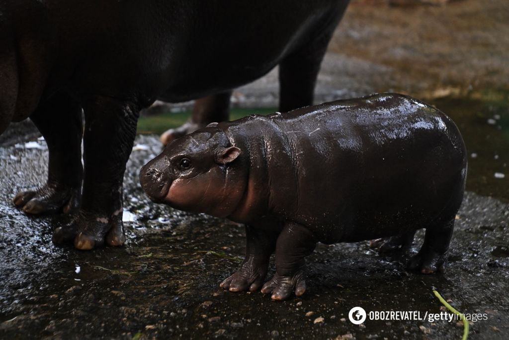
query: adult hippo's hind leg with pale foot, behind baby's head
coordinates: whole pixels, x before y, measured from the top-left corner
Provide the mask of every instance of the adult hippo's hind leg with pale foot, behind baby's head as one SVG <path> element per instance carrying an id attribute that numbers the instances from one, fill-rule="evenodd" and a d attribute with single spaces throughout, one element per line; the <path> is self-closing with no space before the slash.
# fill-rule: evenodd
<path id="1" fill-rule="evenodd" d="M 167 145 L 173 140 L 190 134 L 212 122 L 222 122 L 230 117 L 231 91 L 210 95 L 194 102 L 192 116 L 182 126 L 166 130 L 160 137 L 161 143 Z"/>

